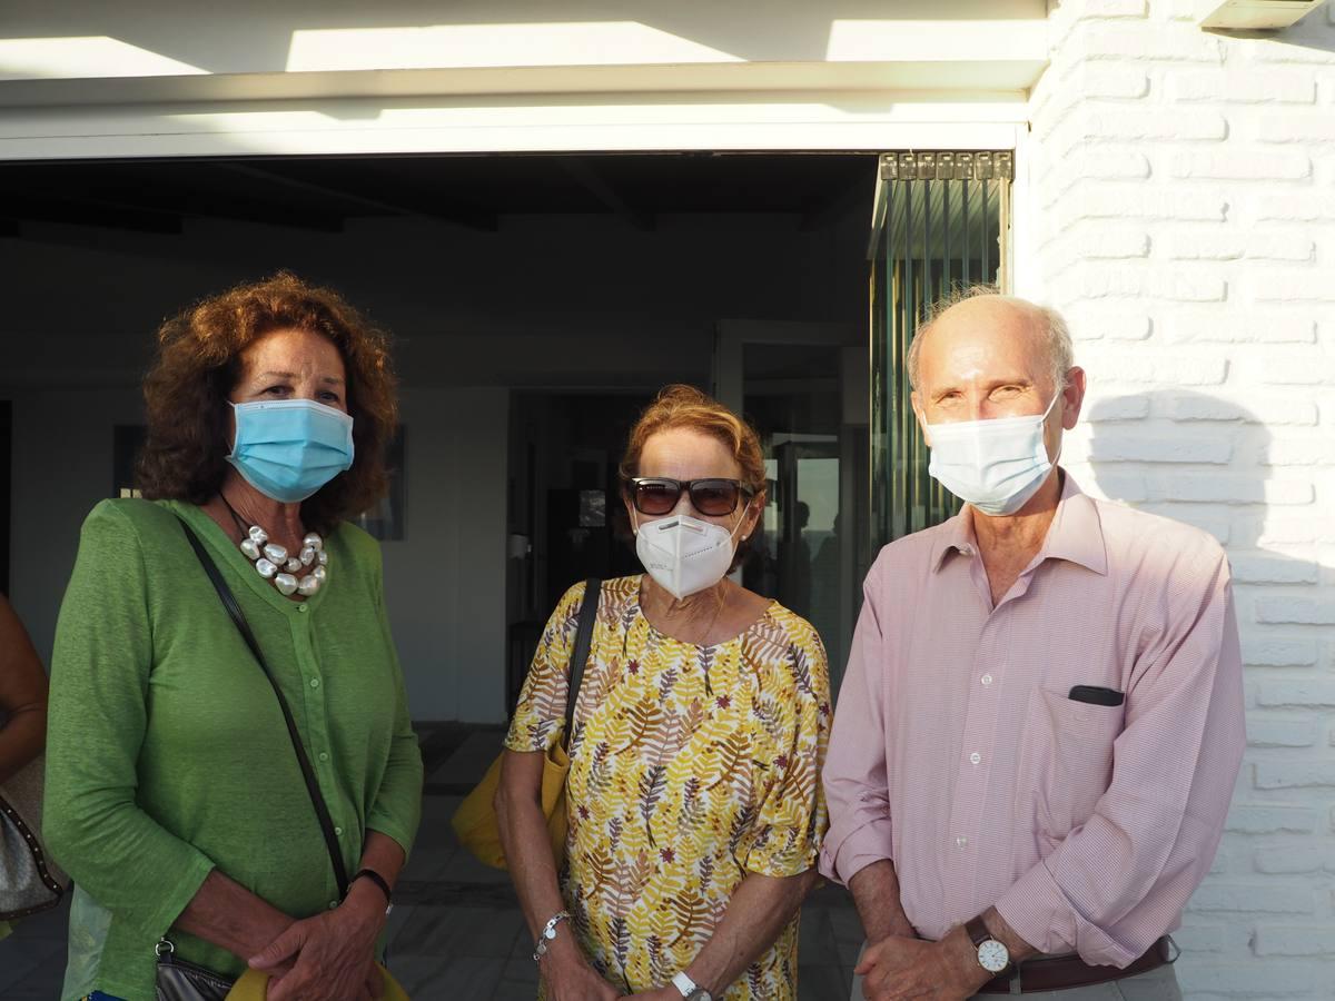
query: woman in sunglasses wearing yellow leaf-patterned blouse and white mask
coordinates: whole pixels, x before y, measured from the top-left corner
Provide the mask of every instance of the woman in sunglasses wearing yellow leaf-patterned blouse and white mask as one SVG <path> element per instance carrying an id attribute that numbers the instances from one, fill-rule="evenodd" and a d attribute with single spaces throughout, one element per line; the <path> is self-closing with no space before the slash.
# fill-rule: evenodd
<path id="1" fill-rule="evenodd" d="M 726 577 L 765 503 L 756 432 L 672 386 L 621 472 L 647 574 L 607 581 L 575 699 L 565 860 L 539 805 L 583 585 L 543 631 L 497 807 L 549 1001 L 797 996 L 797 913 L 825 833 L 830 725 L 812 626 Z M 566 917 L 562 917 L 566 916 Z"/>

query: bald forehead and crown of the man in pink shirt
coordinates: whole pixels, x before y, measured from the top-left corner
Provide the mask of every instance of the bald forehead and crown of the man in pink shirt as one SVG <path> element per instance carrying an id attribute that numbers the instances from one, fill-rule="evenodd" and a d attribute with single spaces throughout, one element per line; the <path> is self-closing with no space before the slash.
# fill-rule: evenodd
<path id="1" fill-rule="evenodd" d="M 987 287 L 971 288 L 933 307 L 909 344 L 909 383 L 914 390 L 930 380 L 937 362 L 952 356 L 953 367 L 972 358 L 979 366 L 1023 359 L 1025 367 L 1037 366 L 1049 380 L 1049 392 L 1060 390 L 1073 364 L 1071 331 L 1056 310 L 1036 306 L 1028 299 L 997 295 Z"/>

